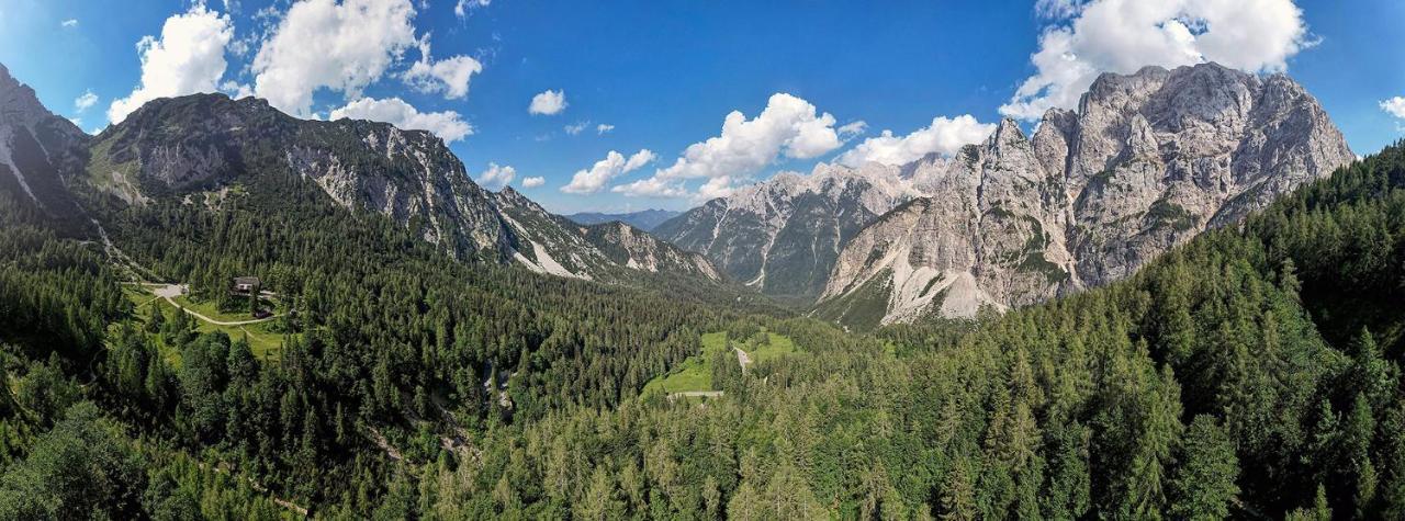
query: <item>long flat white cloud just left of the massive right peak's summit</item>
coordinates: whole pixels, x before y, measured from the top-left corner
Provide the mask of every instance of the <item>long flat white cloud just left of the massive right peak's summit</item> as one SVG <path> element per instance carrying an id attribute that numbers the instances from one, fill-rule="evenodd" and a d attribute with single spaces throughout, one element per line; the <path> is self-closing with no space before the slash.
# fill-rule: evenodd
<path id="1" fill-rule="evenodd" d="M 864 163 L 908 164 L 933 152 L 951 156 L 965 145 L 979 143 L 991 132 L 995 132 L 993 124 L 982 124 L 969 114 L 951 119 L 937 117 L 932 119 L 932 125 L 906 136 L 894 136 L 892 131 L 882 131 L 877 138 L 864 139 L 858 146 L 840 154 L 839 163 L 851 167 Z"/>

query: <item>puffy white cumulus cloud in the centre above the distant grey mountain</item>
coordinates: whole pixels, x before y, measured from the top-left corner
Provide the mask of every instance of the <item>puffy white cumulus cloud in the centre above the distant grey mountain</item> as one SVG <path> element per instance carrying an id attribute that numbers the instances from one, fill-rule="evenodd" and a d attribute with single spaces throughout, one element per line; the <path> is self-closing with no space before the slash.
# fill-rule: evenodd
<path id="1" fill-rule="evenodd" d="M 753 119 L 732 111 L 722 122 L 722 133 L 693 143 L 672 166 L 659 169 L 653 178 L 615 187 L 625 195 L 677 197 L 686 194 L 683 180 L 707 178 L 700 191 L 722 194 L 732 181 L 753 174 L 781 156 L 813 159 L 840 146 L 835 117 L 819 112 L 809 101 L 778 93 L 767 100 L 766 110 Z"/>

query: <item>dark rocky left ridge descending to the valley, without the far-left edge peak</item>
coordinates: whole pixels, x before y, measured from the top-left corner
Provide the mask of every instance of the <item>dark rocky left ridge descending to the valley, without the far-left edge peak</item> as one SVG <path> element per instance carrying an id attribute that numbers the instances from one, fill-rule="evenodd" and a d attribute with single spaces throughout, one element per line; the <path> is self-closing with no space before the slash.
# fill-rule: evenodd
<path id="1" fill-rule="evenodd" d="M 464 258 L 587 279 L 622 281 L 634 271 L 718 278 L 701 257 L 643 232 L 600 233 L 511 188 L 483 190 L 429 132 L 296 119 L 257 98 L 155 100 L 104 131 L 87 164 L 93 184 L 126 204 L 191 201 L 195 192 L 223 197 L 230 187 L 289 176 L 315 183 L 330 204 L 385 215 Z"/>

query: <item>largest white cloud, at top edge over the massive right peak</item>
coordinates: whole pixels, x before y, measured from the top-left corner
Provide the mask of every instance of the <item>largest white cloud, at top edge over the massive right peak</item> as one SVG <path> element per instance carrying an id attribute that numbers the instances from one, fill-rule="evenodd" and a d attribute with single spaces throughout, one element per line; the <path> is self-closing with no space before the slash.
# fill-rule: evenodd
<path id="1" fill-rule="evenodd" d="M 1030 56 L 1037 73 L 1000 107 L 1000 114 L 1021 119 L 1076 107 L 1106 72 L 1201 62 L 1283 70 L 1290 56 L 1312 45 L 1293 0 L 1047 0 L 1037 11 L 1057 22 Z"/>

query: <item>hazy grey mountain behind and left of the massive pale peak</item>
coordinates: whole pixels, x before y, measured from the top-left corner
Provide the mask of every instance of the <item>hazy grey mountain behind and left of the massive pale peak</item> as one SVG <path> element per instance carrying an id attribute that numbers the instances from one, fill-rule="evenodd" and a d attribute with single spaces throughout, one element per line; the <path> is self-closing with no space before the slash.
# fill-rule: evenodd
<path id="1" fill-rule="evenodd" d="M 813 301 L 843 244 L 917 195 L 896 167 L 821 164 L 808 176 L 781 173 L 708 201 L 653 233 L 702 253 L 732 279 L 760 292 Z"/>

